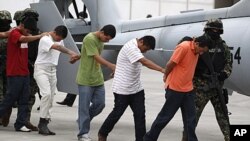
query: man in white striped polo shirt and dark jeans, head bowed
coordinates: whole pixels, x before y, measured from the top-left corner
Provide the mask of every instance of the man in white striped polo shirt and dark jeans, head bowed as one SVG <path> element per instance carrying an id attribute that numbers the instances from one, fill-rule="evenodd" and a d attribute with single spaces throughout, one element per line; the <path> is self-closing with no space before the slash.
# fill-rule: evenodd
<path id="1" fill-rule="evenodd" d="M 142 141 L 146 133 L 145 94 L 140 75 L 142 65 L 149 69 L 164 73 L 165 69 L 144 57 L 143 53 L 155 48 L 155 38 L 144 36 L 132 39 L 120 50 L 116 62 L 116 70 L 112 90 L 115 105 L 112 112 L 101 126 L 99 141 L 106 141 L 108 134 L 130 106 L 135 122 L 135 140 Z"/>

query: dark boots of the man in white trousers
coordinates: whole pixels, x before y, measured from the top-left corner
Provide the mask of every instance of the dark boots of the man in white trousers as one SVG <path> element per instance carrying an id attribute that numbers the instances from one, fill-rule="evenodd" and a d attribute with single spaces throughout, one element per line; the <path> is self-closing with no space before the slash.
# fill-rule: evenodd
<path id="1" fill-rule="evenodd" d="M 55 135 L 56 133 L 49 130 L 48 124 L 49 124 L 49 119 L 40 118 L 38 124 L 38 133 L 42 135 Z"/>

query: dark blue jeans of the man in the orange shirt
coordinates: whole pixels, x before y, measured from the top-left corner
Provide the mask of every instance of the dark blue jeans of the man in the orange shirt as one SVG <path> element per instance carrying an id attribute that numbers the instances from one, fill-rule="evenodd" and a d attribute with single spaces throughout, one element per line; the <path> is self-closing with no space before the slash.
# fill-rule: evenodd
<path id="1" fill-rule="evenodd" d="M 194 91 L 177 92 L 171 89 L 166 90 L 166 101 L 160 113 L 152 124 L 151 129 L 144 136 L 144 141 L 156 141 L 161 130 L 174 117 L 175 113 L 181 108 L 182 119 L 187 131 L 188 141 L 198 141 L 195 134 L 195 103 Z"/>

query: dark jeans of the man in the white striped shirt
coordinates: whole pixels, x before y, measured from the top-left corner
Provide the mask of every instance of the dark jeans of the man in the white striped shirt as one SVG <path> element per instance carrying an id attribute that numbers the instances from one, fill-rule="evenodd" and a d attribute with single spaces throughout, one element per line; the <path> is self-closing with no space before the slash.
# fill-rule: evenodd
<path id="1" fill-rule="evenodd" d="M 144 90 L 131 95 L 121 95 L 114 93 L 115 105 L 113 111 L 104 121 L 99 133 L 108 136 L 115 124 L 121 118 L 128 106 L 131 107 L 134 115 L 136 141 L 142 141 L 146 133 L 145 121 L 145 94 Z"/>

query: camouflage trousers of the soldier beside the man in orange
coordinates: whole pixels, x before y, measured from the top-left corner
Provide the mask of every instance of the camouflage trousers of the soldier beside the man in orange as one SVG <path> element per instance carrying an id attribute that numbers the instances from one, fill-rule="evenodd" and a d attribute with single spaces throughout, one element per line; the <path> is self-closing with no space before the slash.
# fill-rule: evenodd
<path id="1" fill-rule="evenodd" d="M 219 94 L 215 89 L 210 89 L 209 91 L 196 90 L 195 104 L 196 104 L 196 123 L 200 119 L 203 109 L 206 104 L 211 101 L 217 122 L 220 126 L 220 130 L 224 135 L 225 141 L 230 141 L 230 123 L 228 115 L 225 115 L 220 102 Z"/>

